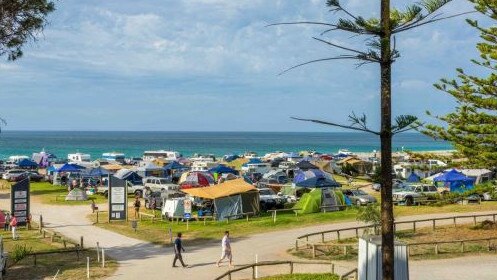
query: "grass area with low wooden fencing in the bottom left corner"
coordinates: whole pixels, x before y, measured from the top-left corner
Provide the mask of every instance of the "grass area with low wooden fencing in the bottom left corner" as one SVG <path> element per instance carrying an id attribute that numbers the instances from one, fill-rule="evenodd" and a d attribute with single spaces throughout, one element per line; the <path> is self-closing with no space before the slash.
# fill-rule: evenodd
<path id="1" fill-rule="evenodd" d="M 37 230 L 19 230 L 20 239 L 13 241 L 11 233 L 0 231 L 4 241 L 4 250 L 12 252 L 16 245 L 26 246 L 32 252 L 51 251 L 61 249 L 61 243 L 50 243 L 49 238 L 43 239 Z M 37 256 L 37 265 L 34 265 L 34 257 L 27 256 L 14 264 L 8 259 L 7 274 L 4 279 L 52 279 L 57 271 L 57 279 L 85 279 L 86 257 L 90 257 L 90 276 L 92 279 L 104 279 L 112 275 L 117 269 L 117 263 L 109 258 L 106 259 L 106 267 L 96 262 L 95 251 L 83 251 L 76 253 L 57 253 Z"/>

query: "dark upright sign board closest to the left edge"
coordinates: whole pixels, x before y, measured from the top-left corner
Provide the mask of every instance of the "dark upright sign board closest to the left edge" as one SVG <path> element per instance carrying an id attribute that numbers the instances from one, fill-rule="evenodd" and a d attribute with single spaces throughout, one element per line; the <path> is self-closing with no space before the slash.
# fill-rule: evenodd
<path id="1" fill-rule="evenodd" d="M 29 217 L 29 178 L 12 185 L 10 212 L 17 218 L 18 226 L 25 226 Z"/>

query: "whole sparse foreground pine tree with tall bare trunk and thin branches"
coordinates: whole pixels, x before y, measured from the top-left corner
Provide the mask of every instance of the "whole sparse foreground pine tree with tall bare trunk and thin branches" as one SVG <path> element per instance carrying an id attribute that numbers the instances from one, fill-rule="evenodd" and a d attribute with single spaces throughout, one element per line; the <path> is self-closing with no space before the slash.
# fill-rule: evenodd
<path id="1" fill-rule="evenodd" d="M 421 0 L 416 4 L 408 5 L 399 10 L 391 7 L 390 0 L 380 1 L 380 18 L 365 18 L 354 15 L 348 11 L 340 0 L 327 0 L 326 5 L 331 12 L 341 13 L 342 18 L 335 22 L 299 21 L 286 22 L 273 25 L 307 24 L 324 28 L 321 36 L 332 32 L 343 32 L 350 37 L 365 37 L 365 48 L 354 49 L 349 46 L 334 43 L 326 38 L 313 37 L 313 39 L 324 43 L 332 48 L 343 51 L 344 54 L 311 60 L 293 66 L 283 73 L 303 65 L 334 60 L 356 60 L 358 66 L 374 63 L 379 65 L 380 80 L 380 115 L 381 127 L 379 131 L 367 127 L 366 116 L 349 116 L 350 125 L 338 124 L 322 120 L 295 118 L 324 125 L 347 128 L 351 130 L 364 131 L 380 137 L 381 143 L 381 236 L 382 236 L 382 264 L 384 280 L 394 279 L 394 217 L 392 202 L 392 137 L 410 129 L 418 128 L 420 123 L 417 117 L 401 115 L 394 118 L 392 124 L 392 64 L 400 57 L 396 49 L 395 35 L 411 29 L 427 25 L 429 23 L 456 17 L 465 12 L 442 16 L 439 10 L 452 0 Z"/>

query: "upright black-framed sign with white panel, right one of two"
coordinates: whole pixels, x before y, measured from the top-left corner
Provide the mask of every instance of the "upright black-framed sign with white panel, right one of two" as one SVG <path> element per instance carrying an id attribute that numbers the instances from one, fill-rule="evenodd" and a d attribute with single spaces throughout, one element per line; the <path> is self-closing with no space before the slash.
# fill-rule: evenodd
<path id="1" fill-rule="evenodd" d="M 109 178 L 109 221 L 125 221 L 128 214 L 128 190 L 126 180 Z"/>

